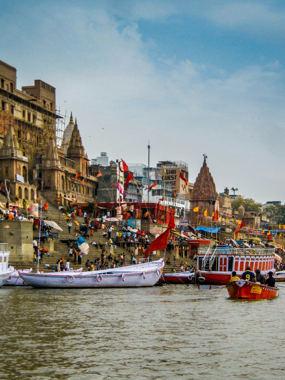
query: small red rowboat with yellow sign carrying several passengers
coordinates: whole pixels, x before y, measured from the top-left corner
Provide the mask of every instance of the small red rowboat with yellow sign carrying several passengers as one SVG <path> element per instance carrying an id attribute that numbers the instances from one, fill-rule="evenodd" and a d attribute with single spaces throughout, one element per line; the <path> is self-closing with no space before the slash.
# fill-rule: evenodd
<path id="1" fill-rule="evenodd" d="M 278 288 L 246 280 L 235 280 L 226 285 L 230 298 L 274 298 Z"/>

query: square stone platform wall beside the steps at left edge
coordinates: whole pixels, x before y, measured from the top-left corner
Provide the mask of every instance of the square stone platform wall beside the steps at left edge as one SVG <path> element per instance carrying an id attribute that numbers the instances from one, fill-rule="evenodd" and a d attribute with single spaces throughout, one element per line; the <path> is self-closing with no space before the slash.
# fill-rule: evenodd
<path id="1" fill-rule="evenodd" d="M 0 242 L 8 243 L 9 261 L 31 262 L 33 258 L 33 223 L 22 220 L 0 220 Z"/>

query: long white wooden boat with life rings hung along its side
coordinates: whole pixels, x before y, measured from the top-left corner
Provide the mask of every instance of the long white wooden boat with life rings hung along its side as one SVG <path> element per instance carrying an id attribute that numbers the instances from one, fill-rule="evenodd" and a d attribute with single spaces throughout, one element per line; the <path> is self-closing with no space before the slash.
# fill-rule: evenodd
<path id="1" fill-rule="evenodd" d="M 150 287 L 160 279 L 164 262 L 130 265 L 92 272 L 49 274 L 21 273 L 22 279 L 34 288 L 115 288 Z"/>

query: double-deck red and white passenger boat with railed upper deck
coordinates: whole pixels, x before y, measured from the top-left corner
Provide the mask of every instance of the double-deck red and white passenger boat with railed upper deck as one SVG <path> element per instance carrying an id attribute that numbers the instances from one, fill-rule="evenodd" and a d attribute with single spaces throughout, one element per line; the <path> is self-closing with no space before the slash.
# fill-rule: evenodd
<path id="1" fill-rule="evenodd" d="M 251 271 L 259 269 L 262 274 L 275 273 L 274 248 L 229 248 L 218 246 L 215 249 L 199 248 L 197 266 L 204 277 L 204 283 L 227 284 L 231 272 L 241 278 L 247 266 Z"/>

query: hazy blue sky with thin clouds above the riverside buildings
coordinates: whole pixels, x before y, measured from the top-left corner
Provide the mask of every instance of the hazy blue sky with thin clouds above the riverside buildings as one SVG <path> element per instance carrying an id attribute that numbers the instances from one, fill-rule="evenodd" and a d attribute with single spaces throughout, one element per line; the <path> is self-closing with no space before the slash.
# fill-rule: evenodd
<path id="1" fill-rule="evenodd" d="M 284 203 L 283 4 L 0 0 L 0 59 L 56 87 L 89 158 L 147 163 L 150 140 L 194 182 L 206 152 L 218 192 Z"/>

